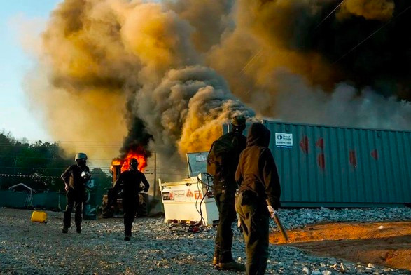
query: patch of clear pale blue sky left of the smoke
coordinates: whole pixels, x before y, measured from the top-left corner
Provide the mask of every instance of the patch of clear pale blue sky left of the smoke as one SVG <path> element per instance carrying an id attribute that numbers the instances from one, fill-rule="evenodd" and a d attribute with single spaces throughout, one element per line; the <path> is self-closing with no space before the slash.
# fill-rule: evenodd
<path id="1" fill-rule="evenodd" d="M 41 29 L 61 0 L 1 1 L 0 9 L 0 133 L 27 140 L 51 141 L 39 114 L 29 108 L 22 88 L 33 58 L 20 43 L 19 24 L 33 21 Z M 23 22 L 24 21 L 24 22 Z"/>

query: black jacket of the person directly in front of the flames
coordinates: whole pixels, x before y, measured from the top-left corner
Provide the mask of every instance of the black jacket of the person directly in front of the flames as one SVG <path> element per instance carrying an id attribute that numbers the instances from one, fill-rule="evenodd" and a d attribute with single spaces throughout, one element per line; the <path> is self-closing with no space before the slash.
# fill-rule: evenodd
<path id="1" fill-rule="evenodd" d="M 140 192 L 141 182 L 144 184 L 144 192 L 147 192 L 150 184 L 146 180 L 146 176 L 139 170 L 126 170 L 118 177 L 114 189 L 118 192 L 123 187 L 123 199 L 135 201 Z"/>

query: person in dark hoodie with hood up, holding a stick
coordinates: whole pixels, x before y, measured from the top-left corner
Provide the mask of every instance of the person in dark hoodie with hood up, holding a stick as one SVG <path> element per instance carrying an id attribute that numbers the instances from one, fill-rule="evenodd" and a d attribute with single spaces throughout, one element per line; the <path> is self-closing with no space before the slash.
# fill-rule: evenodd
<path id="1" fill-rule="evenodd" d="M 263 124 L 253 123 L 235 173 L 235 180 L 240 185 L 235 208 L 246 243 L 246 274 L 265 273 L 268 224 L 270 216 L 273 217 L 280 206 L 281 187 L 269 143 L 270 130 Z"/>

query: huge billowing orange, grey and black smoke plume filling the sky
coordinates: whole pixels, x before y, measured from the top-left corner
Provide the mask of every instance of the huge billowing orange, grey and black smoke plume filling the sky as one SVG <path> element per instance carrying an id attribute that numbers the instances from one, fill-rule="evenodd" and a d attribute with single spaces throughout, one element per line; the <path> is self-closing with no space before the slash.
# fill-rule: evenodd
<path id="1" fill-rule="evenodd" d="M 66 0 L 27 90 L 55 138 L 175 166 L 236 114 L 411 130 L 410 4 L 340 3 Z"/>

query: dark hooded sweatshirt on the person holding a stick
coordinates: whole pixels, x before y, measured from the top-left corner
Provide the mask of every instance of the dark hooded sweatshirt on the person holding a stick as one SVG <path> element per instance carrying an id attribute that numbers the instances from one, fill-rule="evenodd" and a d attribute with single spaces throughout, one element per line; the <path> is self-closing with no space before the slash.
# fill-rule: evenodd
<path id="1" fill-rule="evenodd" d="M 261 123 L 253 123 L 247 136 L 247 147 L 239 156 L 235 180 L 240 192 L 254 192 L 261 206 L 270 201 L 274 209 L 280 206 L 281 187 L 274 157 L 268 145 L 270 130 Z"/>

